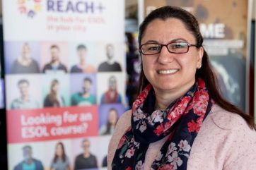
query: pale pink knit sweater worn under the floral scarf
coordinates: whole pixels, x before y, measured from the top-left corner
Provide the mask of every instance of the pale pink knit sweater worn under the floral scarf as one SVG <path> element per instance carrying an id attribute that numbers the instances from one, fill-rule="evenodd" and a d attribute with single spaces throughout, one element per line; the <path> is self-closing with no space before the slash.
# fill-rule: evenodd
<path id="1" fill-rule="evenodd" d="M 124 131 L 131 126 L 131 111 L 122 115 L 110 141 L 107 169 Z M 153 142 L 146 152 L 144 170 L 149 170 L 167 137 Z M 123 170 L 123 169 L 120 169 Z M 256 132 L 237 114 L 214 104 L 194 140 L 187 170 L 256 170 Z"/>

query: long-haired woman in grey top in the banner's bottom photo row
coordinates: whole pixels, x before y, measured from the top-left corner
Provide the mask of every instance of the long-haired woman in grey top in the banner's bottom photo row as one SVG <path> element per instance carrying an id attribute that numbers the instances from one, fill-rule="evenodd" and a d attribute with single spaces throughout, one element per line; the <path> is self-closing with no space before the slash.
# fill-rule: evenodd
<path id="1" fill-rule="evenodd" d="M 51 170 L 70 170 L 69 157 L 65 154 L 62 142 L 57 142 L 54 159 L 51 164 Z"/>

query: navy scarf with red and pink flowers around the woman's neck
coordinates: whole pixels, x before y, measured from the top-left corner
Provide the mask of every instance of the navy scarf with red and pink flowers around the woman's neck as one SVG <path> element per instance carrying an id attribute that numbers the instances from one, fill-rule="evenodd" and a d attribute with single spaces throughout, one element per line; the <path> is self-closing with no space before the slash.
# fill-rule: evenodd
<path id="1" fill-rule="evenodd" d="M 171 103 L 165 111 L 154 109 L 156 98 L 151 85 L 137 97 L 132 107 L 132 126 L 122 136 L 112 170 L 143 170 L 151 142 L 169 135 L 151 170 L 187 169 L 187 159 L 202 122 L 213 102 L 204 80 L 197 80 L 190 90 Z"/>

